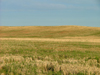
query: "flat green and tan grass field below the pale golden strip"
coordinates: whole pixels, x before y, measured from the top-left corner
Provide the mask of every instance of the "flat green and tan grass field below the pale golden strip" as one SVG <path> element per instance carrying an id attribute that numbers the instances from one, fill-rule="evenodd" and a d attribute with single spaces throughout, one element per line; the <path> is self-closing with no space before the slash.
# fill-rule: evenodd
<path id="1" fill-rule="evenodd" d="M 0 40 L 1 75 L 100 75 L 100 43 Z"/>

